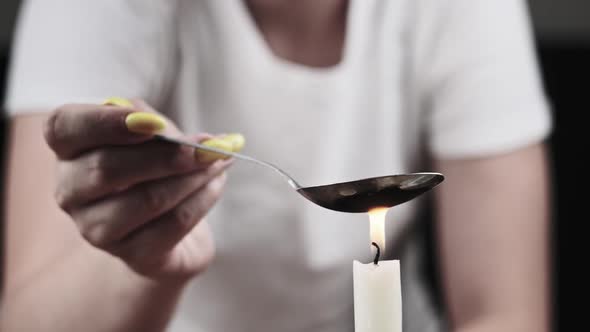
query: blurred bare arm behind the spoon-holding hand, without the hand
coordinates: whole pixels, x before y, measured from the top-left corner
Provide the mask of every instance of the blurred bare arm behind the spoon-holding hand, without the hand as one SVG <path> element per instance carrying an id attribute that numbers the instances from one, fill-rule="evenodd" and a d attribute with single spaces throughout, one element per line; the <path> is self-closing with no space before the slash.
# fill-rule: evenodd
<path id="1" fill-rule="evenodd" d="M 183 284 L 142 277 L 82 239 L 53 198 L 44 120 L 11 124 L 0 330 L 162 331 Z"/>

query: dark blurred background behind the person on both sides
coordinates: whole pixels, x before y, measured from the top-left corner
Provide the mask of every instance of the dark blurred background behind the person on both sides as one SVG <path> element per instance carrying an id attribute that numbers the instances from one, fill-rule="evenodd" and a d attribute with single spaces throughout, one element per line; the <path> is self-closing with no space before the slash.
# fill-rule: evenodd
<path id="1" fill-rule="evenodd" d="M 18 0 L 0 1 L 0 104 L 19 3 Z M 555 130 L 550 143 L 556 206 L 553 218 L 555 330 L 567 331 L 570 326 L 580 330 L 580 326 L 584 325 L 578 323 L 583 324 L 585 316 L 580 315 L 583 306 L 579 309 L 574 306 L 574 303 L 580 303 L 574 299 L 581 297 L 580 285 L 590 282 L 587 273 L 582 272 L 586 269 L 581 266 L 585 261 L 583 254 L 588 248 L 587 241 L 582 238 L 587 216 L 583 214 L 586 210 L 583 195 L 578 194 L 580 188 L 585 187 L 580 182 L 585 180 L 585 176 L 580 174 L 583 174 L 584 152 L 589 151 L 590 142 L 588 137 L 583 136 L 585 130 L 590 130 L 586 121 L 590 112 L 590 1 L 530 0 L 529 3 L 545 86 L 554 106 Z M 5 124 L 2 118 L 2 147 L 5 143 Z M 569 261 L 574 259 L 576 264 L 570 265 Z M 580 283 L 569 280 L 574 275 Z"/>

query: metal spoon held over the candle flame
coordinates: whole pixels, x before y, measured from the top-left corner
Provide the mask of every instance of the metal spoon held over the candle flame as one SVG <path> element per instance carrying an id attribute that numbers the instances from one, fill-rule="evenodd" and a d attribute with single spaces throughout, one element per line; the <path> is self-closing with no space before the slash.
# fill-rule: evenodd
<path id="1" fill-rule="evenodd" d="M 444 176 L 440 173 L 413 173 L 303 187 L 279 167 L 250 156 L 228 152 L 198 143 L 186 142 L 168 136 L 155 135 L 155 138 L 169 143 L 219 153 L 271 168 L 287 180 L 287 183 L 301 194 L 301 196 L 321 207 L 340 212 L 361 213 L 368 212 L 375 207 L 390 208 L 422 195 L 444 180 Z"/>

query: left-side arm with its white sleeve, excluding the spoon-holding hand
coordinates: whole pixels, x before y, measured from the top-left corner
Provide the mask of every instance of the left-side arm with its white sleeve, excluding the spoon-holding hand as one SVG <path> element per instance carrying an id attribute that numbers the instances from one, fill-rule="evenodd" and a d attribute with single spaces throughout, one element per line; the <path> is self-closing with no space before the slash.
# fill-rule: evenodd
<path id="1" fill-rule="evenodd" d="M 6 109 L 22 114 L 112 94 L 161 101 L 174 72 L 175 8 L 174 1 L 23 1 Z M 57 161 L 43 140 L 45 118 L 11 121 L 0 330 L 163 330 L 184 282 L 140 275 L 84 241 L 53 195 Z"/>

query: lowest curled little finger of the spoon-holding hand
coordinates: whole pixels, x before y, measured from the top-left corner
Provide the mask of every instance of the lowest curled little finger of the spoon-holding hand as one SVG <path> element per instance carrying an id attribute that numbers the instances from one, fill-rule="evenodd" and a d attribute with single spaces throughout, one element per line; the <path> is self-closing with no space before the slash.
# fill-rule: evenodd
<path id="1" fill-rule="evenodd" d="M 225 174 L 216 177 L 176 208 L 140 227 L 110 251 L 127 262 L 137 264 L 165 256 L 205 217 L 221 195 L 224 183 Z"/>

